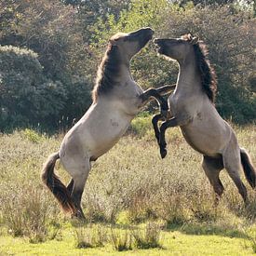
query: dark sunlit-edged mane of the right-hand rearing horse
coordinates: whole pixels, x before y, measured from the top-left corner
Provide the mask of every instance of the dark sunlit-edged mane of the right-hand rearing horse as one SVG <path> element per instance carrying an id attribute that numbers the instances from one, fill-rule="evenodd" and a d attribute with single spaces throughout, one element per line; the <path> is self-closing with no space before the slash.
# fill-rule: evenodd
<path id="1" fill-rule="evenodd" d="M 190 41 L 191 37 L 185 35 L 184 39 Z M 208 48 L 203 41 L 198 41 L 193 47 L 195 50 L 196 63 L 201 76 L 202 88 L 208 95 L 209 100 L 214 103 L 217 92 L 217 76 L 208 59 Z"/>

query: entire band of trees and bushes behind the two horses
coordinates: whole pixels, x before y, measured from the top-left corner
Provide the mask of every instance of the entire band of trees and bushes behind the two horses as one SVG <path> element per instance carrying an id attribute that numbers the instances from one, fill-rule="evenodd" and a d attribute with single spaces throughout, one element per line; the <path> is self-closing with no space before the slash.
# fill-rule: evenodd
<path id="1" fill-rule="evenodd" d="M 256 119 L 255 1 L 0 1 L 0 130 L 68 128 L 91 103 L 108 38 L 151 26 L 155 36 L 199 35 L 219 78 L 217 108 Z M 134 61 L 142 88 L 173 83 L 177 64 L 150 44 Z M 154 110 L 154 105 L 149 106 Z"/>

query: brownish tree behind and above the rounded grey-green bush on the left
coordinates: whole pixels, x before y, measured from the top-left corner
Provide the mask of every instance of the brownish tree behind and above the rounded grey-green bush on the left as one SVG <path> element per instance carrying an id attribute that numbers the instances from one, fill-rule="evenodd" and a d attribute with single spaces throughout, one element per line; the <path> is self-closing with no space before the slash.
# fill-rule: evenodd
<path id="1" fill-rule="evenodd" d="M 89 62 L 90 50 L 84 44 L 79 24 L 75 9 L 58 1 L 0 2 L 0 45 L 27 47 L 36 52 L 42 75 L 53 84 L 61 83 L 66 92 L 58 118 L 68 118 L 69 125 L 83 115 L 91 102 L 94 63 Z M 51 126 L 56 127 L 56 122 L 53 116 Z M 47 124 L 50 126 L 50 120 Z"/>

